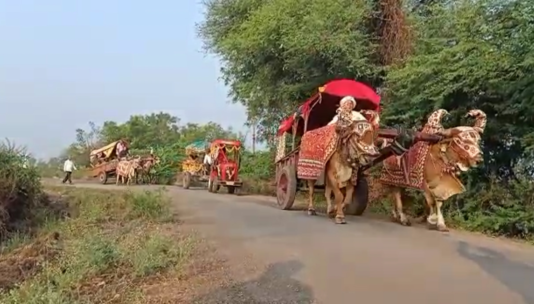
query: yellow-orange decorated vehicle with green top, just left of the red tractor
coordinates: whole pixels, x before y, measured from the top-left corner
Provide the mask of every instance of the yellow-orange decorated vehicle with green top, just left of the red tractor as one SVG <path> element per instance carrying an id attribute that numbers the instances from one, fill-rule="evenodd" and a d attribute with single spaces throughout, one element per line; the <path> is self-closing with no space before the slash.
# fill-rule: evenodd
<path id="1" fill-rule="evenodd" d="M 191 181 L 207 182 L 209 171 L 203 163 L 209 143 L 203 140 L 195 141 L 185 147 L 186 159 L 182 162 L 184 189 L 189 189 Z"/>

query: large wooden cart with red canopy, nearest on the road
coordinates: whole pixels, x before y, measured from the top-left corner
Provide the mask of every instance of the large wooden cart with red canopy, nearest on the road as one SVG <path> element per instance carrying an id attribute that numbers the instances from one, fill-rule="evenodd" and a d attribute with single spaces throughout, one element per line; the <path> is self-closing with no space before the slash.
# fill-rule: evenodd
<path id="1" fill-rule="evenodd" d="M 378 137 L 392 139 L 389 145 L 382 149 L 376 149 L 372 161 L 358 167 L 356 182 L 352 197 L 348 198 L 350 203 L 346 206 L 345 213 L 351 215 L 361 215 L 365 211 L 368 202 L 368 183 L 366 170 L 380 163 L 391 155 L 402 155 L 415 142 L 438 141 L 441 139 L 437 135 L 414 132 L 412 130 L 387 130 L 379 129 L 378 113 L 380 97 L 373 89 L 363 83 L 351 79 L 337 79 L 319 87 L 318 92 L 305 101 L 296 112 L 282 121 L 278 129 L 279 142 L 275 159 L 276 164 L 276 187 L 277 202 L 282 210 L 289 210 L 293 206 L 297 191 L 309 191 L 310 201 L 314 191 L 324 191 L 325 189 L 325 163 L 329 156 L 324 147 L 318 147 L 317 155 L 313 155 L 313 145 L 307 145 L 305 156 L 302 155 L 302 145 L 299 139 L 306 132 L 310 132 L 326 126 L 336 116 L 336 109 L 342 98 L 351 96 L 356 102 L 354 110 L 361 114 L 372 125 L 372 132 L 375 140 Z M 321 142 L 321 140 L 316 140 Z M 290 146 L 289 151 L 286 147 Z M 326 154 L 325 154 L 326 153 Z M 332 154 L 330 154 L 332 155 Z M 300 158 L 302 159 L 299 162 Z M 322 166 L 322 169 L 321 169 Z M 353 165 L 354 166 L 354 165 Z M 307 172 L 308 171 L 308 172 Z M 315 171 L 309 174 L 310 171 Z M 315 174 L 315 175 L 313 175 Z M 310 178 L 313 175 L 312 178 Z M 309 187 L 309 180 L 314 180 L 313 188 Z M 342 189 L 342 191 L 344 191 Z M 308 210 L 309 213 L 315 210 Z M 311 213 L 310 213 L 311 214 Z"/>

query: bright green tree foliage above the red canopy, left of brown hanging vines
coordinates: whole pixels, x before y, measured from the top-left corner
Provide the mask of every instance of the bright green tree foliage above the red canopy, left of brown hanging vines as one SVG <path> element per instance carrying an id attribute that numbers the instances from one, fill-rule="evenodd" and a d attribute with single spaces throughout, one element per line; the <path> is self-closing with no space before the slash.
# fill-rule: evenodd
<path id="1" fill-rule="evenodd" d="M 199 32 L 222 58 L 235 102 L 263 138 L 312 91 L 332 78 L 378 80 L 367 28 L 371 2 L 209 0 Z"/>

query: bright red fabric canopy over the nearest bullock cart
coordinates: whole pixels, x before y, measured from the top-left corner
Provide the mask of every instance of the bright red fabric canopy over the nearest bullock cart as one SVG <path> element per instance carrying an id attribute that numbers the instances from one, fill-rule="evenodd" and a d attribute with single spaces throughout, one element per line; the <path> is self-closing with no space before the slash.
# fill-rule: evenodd
<path id="1" fill-rule="evenodd" d="M 327 94 L 329 98 L 327 98 L 327 95 L 324 94 Z M 361 82 L 354 81 L 352 79 L 336 79 L 331 82 L 328 82 L 324 86 L 319 87 L 319 93 L 313 95 L 313 97 L 308 99 L 299 107 L 300 113 L 302 115 L 309 114 L 313 103 L 319 97 L 321 97 L 321 102 L 334 103 L 333 105 L 331 105 L 331 107 L 329 107 L 334 109 L 334 107 L 337 106 L 337 102 L 339 102 L 339 100 L 345 96 L 354 97 L 358 101 L 359 105 L 360 103 L 363 103 L 363 105 L 358 106 L 358 108 L 360 109 L 364 108 L 375 111 L 380 110 L 380 96 L 376 94 L 376 92 L 371 87 Z M 323 111 L 323 113 L 317 115 L 330 114 L 331 113 L 324 113 Z M 331 117 L 327 117 L 327 119 L 332 119 L 333 115 L 334 114 L 332 114 Z M 313 116 L 315 116 L 315 114 Z M 278 134 L 281 135 L 284 132 L 289 132 L 291 130 L 294 120 L 294 115 L 284 119 L 284 121 L 282 121 L 280 126 L 278 127 Z M 312 129 L 309 128 L 309 130 Z"/>

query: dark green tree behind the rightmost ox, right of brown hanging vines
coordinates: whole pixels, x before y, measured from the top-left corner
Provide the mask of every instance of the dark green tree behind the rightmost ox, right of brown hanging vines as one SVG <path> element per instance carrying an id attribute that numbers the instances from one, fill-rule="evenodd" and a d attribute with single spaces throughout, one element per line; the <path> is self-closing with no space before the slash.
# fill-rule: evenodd
<path id="1" fill-rule="evenodd" d="M 458 125 L 467 110 L 482 109 L 488 126 L 481 177 L 513 178 L 533 143 L 530 6 L 491 0 L 428 6 L 418 20 L 416 53 L 388 74 L 392 99 L 383 121 L 416 122 L 441 107 Z"/>

